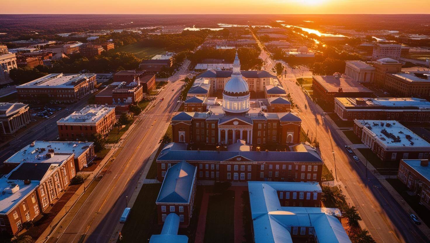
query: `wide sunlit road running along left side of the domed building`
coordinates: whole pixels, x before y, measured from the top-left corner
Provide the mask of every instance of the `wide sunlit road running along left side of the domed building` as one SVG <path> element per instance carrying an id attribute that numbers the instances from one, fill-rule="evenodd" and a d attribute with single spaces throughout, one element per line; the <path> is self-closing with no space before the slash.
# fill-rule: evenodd
<path id="1" fill-rule="evenodd" d="M 184 84 L 178 80 L 189 73 L 189 63 L 188 60 L 184 62 L 181 70 L 169 78 L 169 83 L 158 95 L 154 106 L 140 115 L 135 128 L 121 145 L 122 151 L 92 194 L 77 214 L 66 216 L 49 242 L 95 243 L 110 240 L 126 207 L 126 197 L 131 197 L 148 158 L 158 146 L 164 128 L 170 123 Z M 165 98 L 164 101 L 160 101 L 161 98 Z"/>

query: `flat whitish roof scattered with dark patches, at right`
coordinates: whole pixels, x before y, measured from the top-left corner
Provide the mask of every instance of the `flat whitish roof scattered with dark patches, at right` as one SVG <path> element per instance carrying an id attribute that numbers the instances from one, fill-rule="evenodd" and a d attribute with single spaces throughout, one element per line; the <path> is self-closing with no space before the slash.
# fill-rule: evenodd
<path id="1" fill-rule="evenodd" d="M 387 147 L 427 147 L 430 144 L 414 132 L 394 120 L 354 120 L 363 129 L 369 130 L 374 138 Z"/>

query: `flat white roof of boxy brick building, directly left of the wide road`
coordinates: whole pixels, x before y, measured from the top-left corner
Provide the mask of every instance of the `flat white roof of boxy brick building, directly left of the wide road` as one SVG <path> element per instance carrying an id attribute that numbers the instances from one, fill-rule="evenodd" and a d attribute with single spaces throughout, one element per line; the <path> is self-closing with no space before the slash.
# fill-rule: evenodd
<path id="1" fill-rule="evenodd" d="M 103 118 L 106 114 L 115 110 L 115 107 L 110 107 L 106 105 L 87 105 L 80 111 L 74 111 L 67 117 L 61 118 L 57 121 L 58 125 L 64 123 L 97 123 L 98 120 Z"/>

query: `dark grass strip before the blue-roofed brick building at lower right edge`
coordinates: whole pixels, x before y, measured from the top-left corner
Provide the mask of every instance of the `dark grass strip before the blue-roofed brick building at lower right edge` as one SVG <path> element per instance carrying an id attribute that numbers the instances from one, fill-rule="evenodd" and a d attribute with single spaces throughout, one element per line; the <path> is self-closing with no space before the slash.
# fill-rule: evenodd
<path id="1" fill-rule="evenodd" d="M 430 210 L 427 209 L 424 205 L 420 205 L 420 197 L 410 196 L 407 191 L 408 188 L 405 184 L 402 183 L 399 179 L 386 179 L 388 183 L 390 183 L 394 189 L 403 197 L 406 203 L 411 206 L 412 209 L 418 214 L 418 217 L 424 222 L 426 225 L 430 225 Z"/>

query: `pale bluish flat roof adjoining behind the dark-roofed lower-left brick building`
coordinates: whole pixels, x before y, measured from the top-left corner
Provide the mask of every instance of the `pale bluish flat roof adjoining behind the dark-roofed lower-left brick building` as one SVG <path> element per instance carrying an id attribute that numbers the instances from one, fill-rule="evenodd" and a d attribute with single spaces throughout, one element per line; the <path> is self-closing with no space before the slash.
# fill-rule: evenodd
<path id="1" fill-rule="evenodd" d="M 5 163 L 45 162 L 49 158 L 44 158 L 43 155 L 48 153 L 49 149 L 53 149 L 55 153 L 55 156 L 48 161 L 49 163 L 53 163 L 52 161 L 55 161 L 56 158 L 61 161 L 67 159 L 70 154 L 74 154 L 74 157 L 77 158 L 93 144 L 93 142 L 81 141 L 34 141 L 9 157 Z M 61 157 L 58 155 L 60 153 L 69 155 Z"/>

